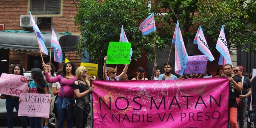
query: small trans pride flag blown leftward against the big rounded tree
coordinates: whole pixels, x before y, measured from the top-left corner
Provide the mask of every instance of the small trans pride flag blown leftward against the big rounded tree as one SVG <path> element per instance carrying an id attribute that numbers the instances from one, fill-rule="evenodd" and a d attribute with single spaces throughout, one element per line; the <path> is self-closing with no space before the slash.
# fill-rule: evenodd
<path id="1" fill-rule="evenodd" d="M 141 23 L 139 30 L 142 32 L 142 35 L 146 35 L 157 30 L 154 13 L 149 15 L 149 17 Z"/>

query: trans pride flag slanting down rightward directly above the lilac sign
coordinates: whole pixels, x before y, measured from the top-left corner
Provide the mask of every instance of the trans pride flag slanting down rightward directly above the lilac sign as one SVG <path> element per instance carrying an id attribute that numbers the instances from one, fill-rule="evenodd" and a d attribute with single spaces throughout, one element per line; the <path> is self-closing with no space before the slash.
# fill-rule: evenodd
<path id="1" fill-rule="evenodd" d="M 211 54 L 211 51 L 208 47 L 208 44 L 206 42 L 206 39 L 204 37 L 204 34 L 203 34 L 203 30 L 201 28 L 201 26 L 199 26 L 197 32 L 196 32 L 196 35 L 195 35 L 195 38 L 194 38 L 194 44 L 197 44 L 198 46 L 198 49 L 208 57 L 209 61 L 213 61 L 214 60 L 214 57 L 213 55 Z"/>

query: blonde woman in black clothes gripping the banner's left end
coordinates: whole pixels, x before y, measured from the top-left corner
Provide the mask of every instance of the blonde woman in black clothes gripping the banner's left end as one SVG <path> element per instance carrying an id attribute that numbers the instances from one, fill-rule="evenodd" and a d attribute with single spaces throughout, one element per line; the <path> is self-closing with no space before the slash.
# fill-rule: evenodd
<path id="1" fill-rule="evenodd" d="M 89 105 L 89 94 L 93 91 L 93 87 L 90 86 L 90 82 L 87 79 L 86 67 L 78 67 L 75 71 L 75 74 L 76 81 L 73 83 L 73 89 L 76 96 L 76 103 L 74 107 L 76 128 L 85 128 L 87 123 L 87 116 L 92 109 Z"/>

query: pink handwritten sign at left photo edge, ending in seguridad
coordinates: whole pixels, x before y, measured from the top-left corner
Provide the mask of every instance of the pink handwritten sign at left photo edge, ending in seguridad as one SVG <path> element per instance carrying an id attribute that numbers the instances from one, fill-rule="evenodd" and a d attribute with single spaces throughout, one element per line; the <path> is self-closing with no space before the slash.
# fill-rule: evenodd
<path id="1" fill-rule="evenodd" d="M 29 77 L 2 73 L 0 77 L 0 94 L 20 96 L 28 92 L 27 80 Z"/>

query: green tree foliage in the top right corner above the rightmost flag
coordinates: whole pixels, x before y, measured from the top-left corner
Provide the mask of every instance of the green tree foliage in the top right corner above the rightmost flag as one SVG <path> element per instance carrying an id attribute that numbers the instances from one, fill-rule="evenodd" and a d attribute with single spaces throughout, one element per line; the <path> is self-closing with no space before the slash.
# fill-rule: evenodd
<path id="1" fill-rule="evenodd" d="M 221 26 L 224 25 L 229 47 L 243 47 L 250 44 L 250 50 L 256 53 L 256 1 L 255 0 L 202 0 L 201 8 L 194 19 L 201 25 L 205 36 L 213 37 L 216 42 Z"/>

